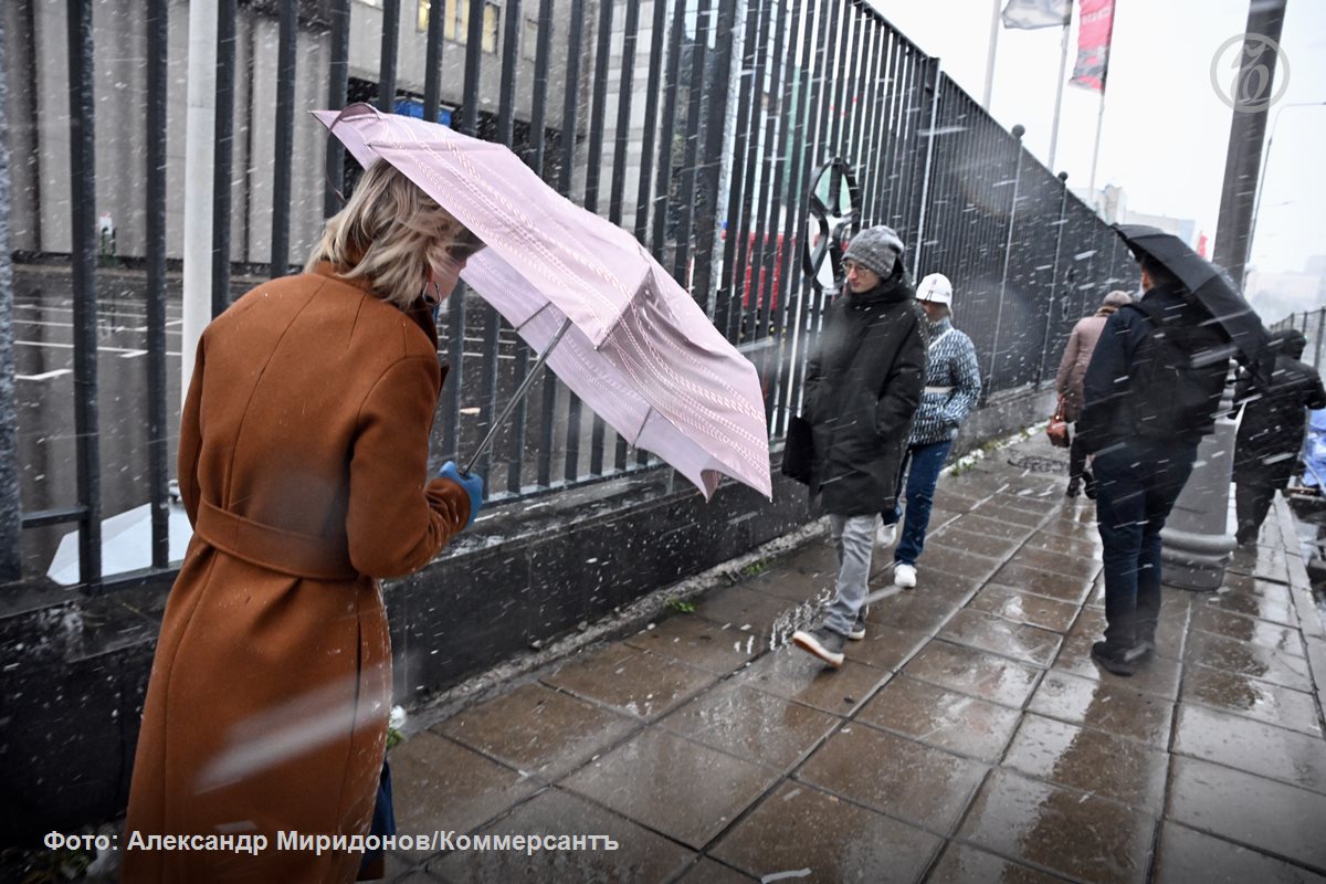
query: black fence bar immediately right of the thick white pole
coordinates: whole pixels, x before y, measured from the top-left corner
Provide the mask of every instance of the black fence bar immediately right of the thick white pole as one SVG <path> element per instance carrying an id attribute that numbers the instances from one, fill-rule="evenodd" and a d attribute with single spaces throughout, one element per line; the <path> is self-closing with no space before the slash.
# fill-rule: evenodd
<path id="1" fill-rule="evenodd" d="M 216 1 L 216 114 L 212 127 L 212 315 L 231 305 L 231 167 L 235 156 L 235 0 Z"/>

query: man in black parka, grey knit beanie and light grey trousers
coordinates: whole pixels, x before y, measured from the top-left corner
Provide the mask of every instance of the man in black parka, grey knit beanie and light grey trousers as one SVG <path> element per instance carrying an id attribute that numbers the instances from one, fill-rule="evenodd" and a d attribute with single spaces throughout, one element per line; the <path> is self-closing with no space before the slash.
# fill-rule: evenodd
<path id="1" fill-rule="evenodd" d="M 898 476 L 926 384 L 926 315 L 888 227 L 858 233 L 843 256 L 847 292 L 825 311 L 806 368 L 802 414 L 815 463 L 810 494 L 822 496 L 838 550 L 837 596 L 823 623 L 792 640 L 831 667 L 843 639 L 865 637 L 870 558 L 882 510 L 896 504 Z"/>

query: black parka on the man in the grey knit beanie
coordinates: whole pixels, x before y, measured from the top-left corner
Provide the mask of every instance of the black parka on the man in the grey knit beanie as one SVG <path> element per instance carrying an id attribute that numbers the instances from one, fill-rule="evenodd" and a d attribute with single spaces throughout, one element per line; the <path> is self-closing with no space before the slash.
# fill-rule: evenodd
<path id="1" fill-rule="evenodd" d="M 810 494 L 825 512 L 869 516 L 894 508 L 907 435 L 926 384 L 926 314 L 900 273 L 847 292 L 825 310 L 806 368 L 805 407 L 815 441 Z"/>

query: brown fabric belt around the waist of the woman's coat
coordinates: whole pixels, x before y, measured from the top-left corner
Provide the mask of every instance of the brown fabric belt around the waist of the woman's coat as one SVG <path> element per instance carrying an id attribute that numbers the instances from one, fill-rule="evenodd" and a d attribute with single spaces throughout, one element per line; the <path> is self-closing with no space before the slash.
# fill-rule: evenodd
<path id="1" fill-rule="evenodd" d="M 350 563 L 345 535 L 300 534 L 229 513 L 199 501 L 194 533 L 216 549 L 251 565 L 316 580 L 350 580 L 359 573 Z"/>

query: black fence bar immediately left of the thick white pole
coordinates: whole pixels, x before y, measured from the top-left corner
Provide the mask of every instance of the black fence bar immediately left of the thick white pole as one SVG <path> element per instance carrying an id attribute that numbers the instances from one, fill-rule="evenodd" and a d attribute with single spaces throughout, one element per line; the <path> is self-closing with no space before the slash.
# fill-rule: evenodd
<path id="1" fill-rule="evenodd" d="M 147 482 L 152 566 L 170 562 L 170 428 L 166 408 L 166 98 L 167 0 L 147 4 L 147 168 L 143 220 L 147 241 Z"/>

